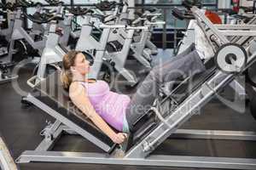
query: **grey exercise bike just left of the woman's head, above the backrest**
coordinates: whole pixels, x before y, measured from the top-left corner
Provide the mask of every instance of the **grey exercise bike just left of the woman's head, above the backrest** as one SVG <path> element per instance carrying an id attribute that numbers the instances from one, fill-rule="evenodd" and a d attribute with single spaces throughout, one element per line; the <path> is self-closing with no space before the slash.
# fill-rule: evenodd
<path id="1" fill-rule="evenodd" d="M 51 3 L 51 1 L 47 1 Z M 35 68 L 33 73 L 33 77 L 27 80 L 27 84 L 34 88 L 36 84 L 42 81 L 49 74 L 49 70 L 60 69 L 57 65 L 58 62 L 62 61 L 62 57 L 66 54 L 67 50 L 62 48 L 59 45 L 59 39 L 61 37 L 61 33 L 58 27 L 58 21 L 64 20 L 61 16 L 61 1 L 53 1 L 54 5 L 57 5 L 57 10 L 55 14 L 44 14 L 44 18 L 40 20 L 35 20 L 30 16 L 30 19 L 33 22 L 38 23 L 48 23 L 49 30 L 44 32 L 44 38 L 46 39 L 45 47 L 42 51 L 42 55 L 40 58 L 40 62 L 38 66 Z"/>

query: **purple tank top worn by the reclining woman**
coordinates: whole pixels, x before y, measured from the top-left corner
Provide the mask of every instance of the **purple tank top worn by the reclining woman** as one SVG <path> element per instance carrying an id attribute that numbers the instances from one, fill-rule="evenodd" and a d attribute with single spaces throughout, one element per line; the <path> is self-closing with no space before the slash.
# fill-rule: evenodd
<path id="1" fill-rule="evenodd" d="M 98 80 L 95 83 L 81 82 L 96 113 L 102 116 L 109 125 L 122 131 L 125 109 L 131 99 L 125 94 L 110 91 L 108 83 Z"/>

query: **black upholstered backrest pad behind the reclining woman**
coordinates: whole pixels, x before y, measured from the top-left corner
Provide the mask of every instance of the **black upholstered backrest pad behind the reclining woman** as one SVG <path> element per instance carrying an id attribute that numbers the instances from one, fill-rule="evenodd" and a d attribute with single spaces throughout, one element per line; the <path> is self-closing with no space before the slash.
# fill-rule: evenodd
<path id="1" fill-rule="evenodd" d="M 82 127 L 84 131 L 91 133 L 107 144 L 111 148 L 108 150 L 109 152 L 115 147 L 116 144 L 73 105 L 68 97 L 68 92 L 62 87 L 60 71 L 55 71 L 49 75 L 35 88 L 32 95 L 79 127 Z"/>

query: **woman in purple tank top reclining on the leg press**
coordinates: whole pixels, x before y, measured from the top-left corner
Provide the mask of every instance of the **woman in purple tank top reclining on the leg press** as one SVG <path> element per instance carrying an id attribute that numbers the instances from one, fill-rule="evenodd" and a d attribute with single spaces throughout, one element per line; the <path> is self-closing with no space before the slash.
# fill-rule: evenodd
<path id="1" fill-rule="evenodd" d="M 213 56 L 212 47 L 207 43 L 201 28 L 194 24 L 195 46 L 191 45 L 182 54 L 154 67 L 132 99 L 110 91 L 107 82 L 86 78 L 86 74 L 90 72 L 90 63 L 79 51 L 70 51 L 63 58 L 63 86 L 69 90 L 74 105 L 114 143 L 121 144 L 125 141 L 126 133 L 133 128 L 134 122 L 153 105 L 162 84 L 206 70 L 203 61 Z M 112 127 L 119 133 L 115 133 Z"/>

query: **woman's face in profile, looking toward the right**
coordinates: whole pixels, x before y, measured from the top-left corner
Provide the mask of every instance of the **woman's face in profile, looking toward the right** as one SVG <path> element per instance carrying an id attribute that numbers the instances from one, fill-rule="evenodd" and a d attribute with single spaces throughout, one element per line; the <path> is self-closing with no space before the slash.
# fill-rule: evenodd
<path id="1" fill-rule="evenodd" d="M 75 59 L 74 69 L 78 71 L 81 75 L 86 75 L 90 72 L 90 62 L 85 59 L 84 54 L 79 53 Z"/>

